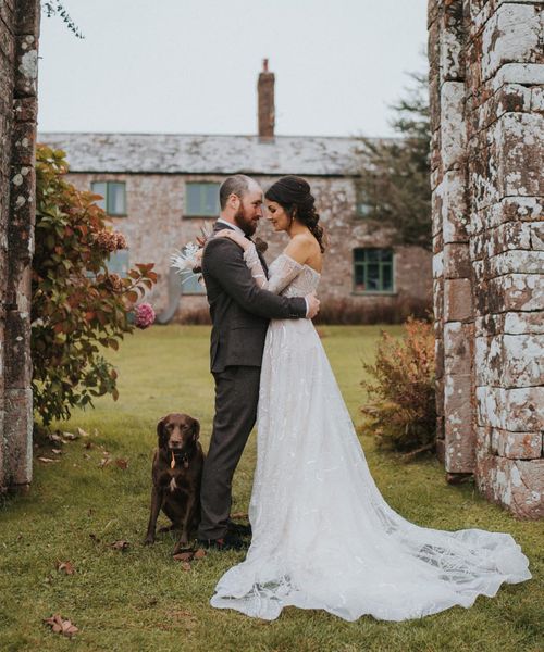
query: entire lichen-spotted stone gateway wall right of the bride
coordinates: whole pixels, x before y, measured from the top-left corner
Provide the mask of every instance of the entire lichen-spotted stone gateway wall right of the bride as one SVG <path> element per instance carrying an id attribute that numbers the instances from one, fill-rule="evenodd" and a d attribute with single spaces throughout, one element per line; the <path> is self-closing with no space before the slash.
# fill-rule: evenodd
<path id="1" fill-rule="evenodd" d="M 438 431 L 452 480 L 544 513 L 542 1 L 431 0 Z"/>

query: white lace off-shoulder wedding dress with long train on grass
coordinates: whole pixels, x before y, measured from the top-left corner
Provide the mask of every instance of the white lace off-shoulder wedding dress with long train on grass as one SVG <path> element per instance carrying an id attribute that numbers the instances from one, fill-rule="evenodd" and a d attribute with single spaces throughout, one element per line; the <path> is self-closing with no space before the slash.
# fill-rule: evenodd
<path id="1" fill-rule="evenodd" d="M 320 279 L 286 254 L 269 280 L 255 248 L 245 260 L 256 283 L 288 297 Z M 419 527 L 387 505 L 311 321 L 270 323 L 257 425 L 251 546 L 217 585 L 213 606 L 265 619 L 295 605 L 404 620 L 531 578 L 510 535 Z"/>

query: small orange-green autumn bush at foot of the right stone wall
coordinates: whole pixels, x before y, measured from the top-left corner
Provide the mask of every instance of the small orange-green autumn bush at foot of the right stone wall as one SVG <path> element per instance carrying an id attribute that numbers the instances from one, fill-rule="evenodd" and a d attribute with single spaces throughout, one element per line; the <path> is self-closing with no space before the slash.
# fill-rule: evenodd
<path id="1" fill-rule="evenodd" d="M 382 333 L 371 375 L 362 386 L 369 402 L 361 412 L 364 428 L 381 447 L 404 452 L 434 448 L 436 405 L 434 388 L 434 334 L 428 322 L 409 317 L 396 339 Z"/>

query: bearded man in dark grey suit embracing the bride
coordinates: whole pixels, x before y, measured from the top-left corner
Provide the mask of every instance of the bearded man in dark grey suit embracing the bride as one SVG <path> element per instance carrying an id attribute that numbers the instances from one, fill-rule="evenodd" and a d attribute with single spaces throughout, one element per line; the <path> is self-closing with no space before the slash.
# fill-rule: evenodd
<path id="1" fill-rule="evenodd" d="M 262 189 L 257 181 L 242 174 L 228 177 L 219 199 L 221 214 L 214 233 L 232 228 L 250 239 L 262 217 Z M 267 273 L 262 258 L 261 263 Z M 215 416 L 202 475 L 198 538 L 207 548 L 240 549 L 245 543 L 228 519 L 232 479 L 257 418 L 269 319 L 311 319 L 319 301 L 313 293 L 288 299 L 260 289 L 244 262 L 243 250 L 228 238 L 208 240 L 202 274 L 213 325 L 210 358 Z"/>

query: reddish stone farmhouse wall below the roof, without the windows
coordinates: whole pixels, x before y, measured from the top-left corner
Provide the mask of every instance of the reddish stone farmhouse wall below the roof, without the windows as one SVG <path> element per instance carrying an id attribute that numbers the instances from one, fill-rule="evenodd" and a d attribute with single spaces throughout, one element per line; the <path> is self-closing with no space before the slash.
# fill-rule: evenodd
<path id="1" fill-rule="evenodd" d="M 296 162 L 295 162 L 296 165 Z M 252 175 L 263 188 L 277 177 Z M 116 229 L 127 239 L 131 264 L 153 262 L 159 273 L 157 287 L 148 294 L 159 313 L 169 303 L 170 254 L 194 241 L 205 224 L 214 218 L 184 216 L 185 184 L 222 183 L 226 175 L 182 174 L 84 174 L 71 173 L 67 179 L 81 189 L 90 189 L 96 180 L 126 184 L 126 217 L 112 217 Z M 388 248 L 391 230 L 381 228 L 356 214 L 356 183 L 346 177 L 308 177 L 314 192 L 322 224 L 327 230 L 323 278 L 319 288 L 323 310 L 358 310 L 361 319 L 380 321 L 410 306 L 424 310 L 432 301 L 432 254 L 418 247 L 393 247 L 395 281 L 391 294 L 360 294 L 354 290 L 353 250 L 358 247 Z M 285 247 L 285 236 L 274 234 L 261 220 L 257 236 L 269 243 L 265 258 L 271 262 Z M 175 321 L 207 313 L 206 297 L 182 296 Z"/>

